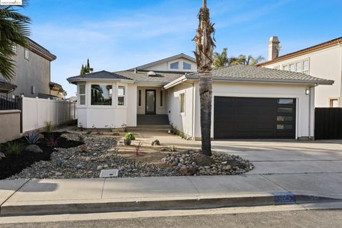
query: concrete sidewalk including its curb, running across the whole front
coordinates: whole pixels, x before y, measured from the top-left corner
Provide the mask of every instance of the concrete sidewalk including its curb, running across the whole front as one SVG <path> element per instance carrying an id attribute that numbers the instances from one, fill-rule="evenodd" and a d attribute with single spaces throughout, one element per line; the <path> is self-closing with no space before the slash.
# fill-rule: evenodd
<path id="1" fill-rule="evenodd" d="M 241 207 L 342 199 L 342 173 L 2 180 L 1 216 Z"/>

